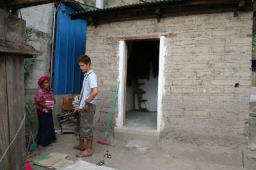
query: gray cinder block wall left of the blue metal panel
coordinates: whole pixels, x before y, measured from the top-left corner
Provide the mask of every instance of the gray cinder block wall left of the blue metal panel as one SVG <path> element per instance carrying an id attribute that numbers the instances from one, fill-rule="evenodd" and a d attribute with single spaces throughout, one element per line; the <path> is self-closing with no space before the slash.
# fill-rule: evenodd
<path id="1" fill-rule="evenodd" d="M 37 85 L 38 78 L 44 75 L 50 76 L 54 3 L 23 8 L 20 13 L 22 18 L 26 20 L 26 27 L 31 25 L 35 27 L 35 32 L 28 44 L 42 52 L 42 55 L 38 56 L 40 62 L 36 62 L 32 68 L 26 84 L 26 97 L 28 100 L 33 100 L 33 96 L 39 88 Z"/>

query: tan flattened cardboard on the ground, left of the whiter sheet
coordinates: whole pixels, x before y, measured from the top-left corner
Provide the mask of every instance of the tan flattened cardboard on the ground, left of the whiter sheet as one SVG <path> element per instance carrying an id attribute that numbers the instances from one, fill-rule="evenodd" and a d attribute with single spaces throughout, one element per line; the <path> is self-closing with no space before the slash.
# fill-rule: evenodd
<path id="1" fill-rule="evenodd" d="M 41 159 L 35 159 L 34 163 L 38 166 L 47 167 L 49 169 L 62 169 L 74 163 L 73 160 L 67 160 L 68 154 L 50 153 Z"/>

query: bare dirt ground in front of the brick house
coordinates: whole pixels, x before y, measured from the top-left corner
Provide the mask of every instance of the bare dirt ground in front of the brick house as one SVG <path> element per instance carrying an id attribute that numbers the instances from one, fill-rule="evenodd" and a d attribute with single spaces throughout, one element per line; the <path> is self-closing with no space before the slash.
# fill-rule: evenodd
<path id="1" fill-rule="evenodd" d="M 97 164 L 104 160 L 104 166 L 115 169 L 246 169 L 243 167 L 245 157 L 242 146 L 197 146 L 192 143 L 175 143 L 161 139 L 148 141 L 143 139 L 117 140 L 112 146 L 100 145 L 97 139 L 102 132 L 95 132 L 92 157 L 82 158 L 86 162 Z M 68 160 L 78 160 L 77 150 L 72 148 L 77 143 L 74 134 L 58 134 L 57 142 L 47 146 L 43 151 L 34 151 L 33 159 L 43 157 L 47 153 L 67 153 Z M 104 158 L 109 151 L 111 159 Z M 31 163 L 32 165 L 32 163 Z M 246 165 L 244 165 L 246 166 Z M 32 165 L 33 169 L 42 170 L 44 167 Z M 256 166 L 255 166 L 256 167 Z"/>

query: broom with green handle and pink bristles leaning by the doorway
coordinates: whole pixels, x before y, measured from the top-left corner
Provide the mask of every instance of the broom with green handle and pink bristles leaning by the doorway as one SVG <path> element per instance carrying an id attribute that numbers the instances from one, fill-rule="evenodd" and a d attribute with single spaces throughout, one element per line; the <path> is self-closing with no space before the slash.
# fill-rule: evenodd
<path id="1" fill-rule="evenodd" d="M 108 130 L 109 130 L 109 127 L 110 127 L 110 124 L 111 124 L 111 118 L 112 118 L 112 115 L 113 115 L 113 110 L 114 110 L 114 108 L 115 108 L 115 103 L 116 103 L 116 97 L 117 97 L 119 82 L 120 82 L 120 81 L 118 81 L 117 86 L 116 86 L 115 97 L 114 97 L 114 101 L 113 101 L 113 104 L 112 104 L 112 108 L 111 108 L 111 110 L 110 110 L 110 114 L 109 114 L 109 118 L 108 118 L 108 125 L 107 125 L 107 129 L 106 129 L 105 136 L 104 136 L 104 138 L 100 138 L 100 139 L 97 141 L 98 143 L 101 143 L 101 144 L 103 144 L 103 145 L 112 145 L 110 139 L 108 139 L 107 136 L 108 136 Z"/>

